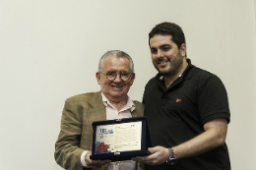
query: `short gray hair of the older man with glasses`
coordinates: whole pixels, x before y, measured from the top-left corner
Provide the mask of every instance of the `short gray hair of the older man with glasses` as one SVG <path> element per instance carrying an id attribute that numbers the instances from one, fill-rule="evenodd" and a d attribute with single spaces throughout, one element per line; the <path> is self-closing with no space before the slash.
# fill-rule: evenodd
<path id="1" fill-rule="evenodd" d="M 120 50 L 111 50 L 111 51 L 107 51 L 106 53 L 104 53 L 98 63 L 98 70 L 97 70 L 98 72 L 102 72 L 103 60 L 107 56 L 115 56 L 117 58 L 127 58 L 131 64 L 131 68 L 130 68 L 131 72 L 132 72 L 132 74 L 134 73 L 134 64 L 133 64 L 132 58 L 127 53 L 120 51 Z"/>

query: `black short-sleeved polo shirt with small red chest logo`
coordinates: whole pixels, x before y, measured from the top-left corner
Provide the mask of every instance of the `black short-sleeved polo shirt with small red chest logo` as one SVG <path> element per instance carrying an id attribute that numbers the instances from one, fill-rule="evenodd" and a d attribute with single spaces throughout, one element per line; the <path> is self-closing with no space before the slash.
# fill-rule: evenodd
<path id="1" fill-rule="evenodd" d="M 207 71 L 188 66 L 168 88 L 158 74 L 145 87 L 143 103 L 153 144 L 172 147 L 204 132 L 204 124 L 226 118 L 229 122 L 227 94 L 222 81 Z M 158 169 L 157 166 L 146 166 Z M 174 166 L 159 169 L 230 169 L 226 144 L 191 158 L 180 159 Z"/>

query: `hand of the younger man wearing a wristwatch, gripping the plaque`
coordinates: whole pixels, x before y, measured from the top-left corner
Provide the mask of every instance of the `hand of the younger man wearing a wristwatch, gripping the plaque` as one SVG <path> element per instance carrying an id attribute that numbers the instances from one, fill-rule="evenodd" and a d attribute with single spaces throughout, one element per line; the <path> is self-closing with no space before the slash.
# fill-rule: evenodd
<path id="1" fill-rule="evenodd" d="M 151 165 L 159 165 L 164 163 L 169 157 L 168 148 L 163 146 L 149 147 L 149 151 L 152 153 L 151 155 L 137 156 L 132 158 L 132 160 Z"/>

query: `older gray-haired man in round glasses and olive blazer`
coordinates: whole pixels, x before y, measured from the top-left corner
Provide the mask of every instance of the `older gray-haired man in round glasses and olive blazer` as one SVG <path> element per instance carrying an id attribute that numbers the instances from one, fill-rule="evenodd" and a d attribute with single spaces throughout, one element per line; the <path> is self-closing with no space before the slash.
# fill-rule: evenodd
<path id="1" fill-rule="evenodd" d="M 131 57 L 119 50 L 106 52 L 99 60 L 96 80 L 101 91 L 68 98 L 55 144 L 55 160 L 65 169 L 135 170 L 132 160 L 91 160 L 94 121 L 142 116 L 142 106 L 127 95 L 135 79 Z"/>

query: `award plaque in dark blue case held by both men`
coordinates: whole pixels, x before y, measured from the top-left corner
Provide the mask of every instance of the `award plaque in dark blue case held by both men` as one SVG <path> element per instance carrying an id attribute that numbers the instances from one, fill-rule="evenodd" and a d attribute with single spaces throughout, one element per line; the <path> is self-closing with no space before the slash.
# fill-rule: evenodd
<path id="1" fill-rule="evenodd" d="M 152 140 L 146 117 L 94 122 L 93 130 L 93 160 L 120 161 L 150 154 Z"/>

